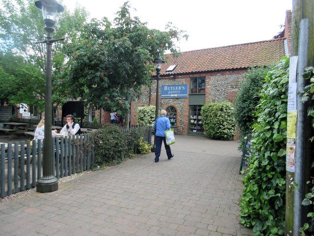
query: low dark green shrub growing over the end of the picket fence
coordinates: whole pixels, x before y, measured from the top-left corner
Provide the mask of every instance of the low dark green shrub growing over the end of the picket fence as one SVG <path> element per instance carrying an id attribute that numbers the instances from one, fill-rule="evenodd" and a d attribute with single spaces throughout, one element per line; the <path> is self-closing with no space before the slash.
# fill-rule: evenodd
<path id="1" fill-rule="evenodd" d="M 91 143 L 95 147 L 96 166 L 118 164 L 130 156 L 129 135 L 117 125 L 108 124 L 92 133 Z"/>

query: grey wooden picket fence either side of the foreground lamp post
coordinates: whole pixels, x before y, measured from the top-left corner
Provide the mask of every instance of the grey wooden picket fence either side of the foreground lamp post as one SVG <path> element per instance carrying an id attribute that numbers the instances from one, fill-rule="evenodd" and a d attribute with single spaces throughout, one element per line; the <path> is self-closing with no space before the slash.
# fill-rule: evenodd
<path id="1" fill-rule="evenodd" d="M 52 138 L 53 174 L 57 178 L 91 170 L 94 147 L 86 147 L 90 134 Z M 0 198 L 36 186 L 41 179 L 43 148 L 41 141 L 0 145 Z"/>

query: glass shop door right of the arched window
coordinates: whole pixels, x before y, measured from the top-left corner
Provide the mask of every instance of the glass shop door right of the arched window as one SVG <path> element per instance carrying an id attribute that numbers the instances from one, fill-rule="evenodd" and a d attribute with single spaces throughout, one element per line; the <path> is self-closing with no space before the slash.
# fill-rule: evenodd
<path id="1" fill-rule="evenodd" d="M 189 132 L 190 135 L 204 135 L 204 128 L 201 115 L 202 105 L 191 105 L 189 116 Z"/>

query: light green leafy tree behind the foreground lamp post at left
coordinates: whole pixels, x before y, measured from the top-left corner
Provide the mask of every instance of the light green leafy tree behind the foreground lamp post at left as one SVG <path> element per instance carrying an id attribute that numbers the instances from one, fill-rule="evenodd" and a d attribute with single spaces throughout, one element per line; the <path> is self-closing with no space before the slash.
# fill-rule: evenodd
<path id="1" fill-rule="evenodd" d="M 62 104 L 67 97 L 71 97 L 68 87 L 71 85 L 63 84 L 56 77 L 56 72 L 68 60 L 64 47 L 68 43 L 76 43 L 82 26 L 86 23 L 87 12 L 84 8 L 76 8 L 73 14 L 65 8 L 65 11 L 59 14 L 55 25 L 54 38 L 65 37 L 65 41 L 59 41 L 53 44 L 52 48 L 52 103 Z M 1 58 L 0 65 L 2 69 L 11 76 L 15 76 L 19 83 L 10 83 L 8 90 L 19 91 L 19 94 L 10 103 L 28 103 L 30 105 L 43 106 L 45 98 L 45 75 L 46 75 L 46 45 L 35 44 L 42 41 L 47 35 L 44 29 L 42 12 L 35 5 L 33 0 L 0 1 L 0 51 L 3 55 L 11 53 L 15 56 L 21 56 L 17 59 L 17 67 L 3 66 L 6 63 Z M 14 58 L 14 57 L 13 57 Z M 9 70 L 6 70 L 9 69 Z M 13 69 L 13 70 L 12 70 Z M 18 76 L 22 76 L 18 78 Z M 26 77 L 26 78 L 25 78 Z M 34 77 L 34 79 L 32 79 Z M 8 78 L 8 77 L 6 77 Z M 10 77 L 12 79 L 12 77 Z M 4 80 L 5 78 L 0 78 Z M 34 81 L 38 83 L 33 84 Z M 21 83 L 23 84 L 21 86 Z M 32 85 L 38 86 L 34 89 Z M 32 88 L 32 89 L 30 89 Z M 38 92 L 37 94 L 35 94 Z M 30 93 L 32 96 L 29 96 Z M 43 107 L 41 108 L 43 110 Z"/>

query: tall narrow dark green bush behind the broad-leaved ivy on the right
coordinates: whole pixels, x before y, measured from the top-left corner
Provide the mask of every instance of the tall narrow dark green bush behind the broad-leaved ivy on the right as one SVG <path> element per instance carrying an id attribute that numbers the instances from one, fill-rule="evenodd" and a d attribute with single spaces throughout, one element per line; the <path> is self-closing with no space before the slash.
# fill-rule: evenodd
<path id="1" fill-rule="evenodd" d="M 264 76 L 267 71 L 267 67 L 250 68 L 247 73 L 244 74 L 245 80 L 239 86 L 234 107 L 235 121 L 240 133 L 240 150 L 243 150 L 245 143 L 244 137 L 252 131 L 252 125 L 255 119 L 254 113 L 260 100 L 258 92 L 262 89 Z"/>

